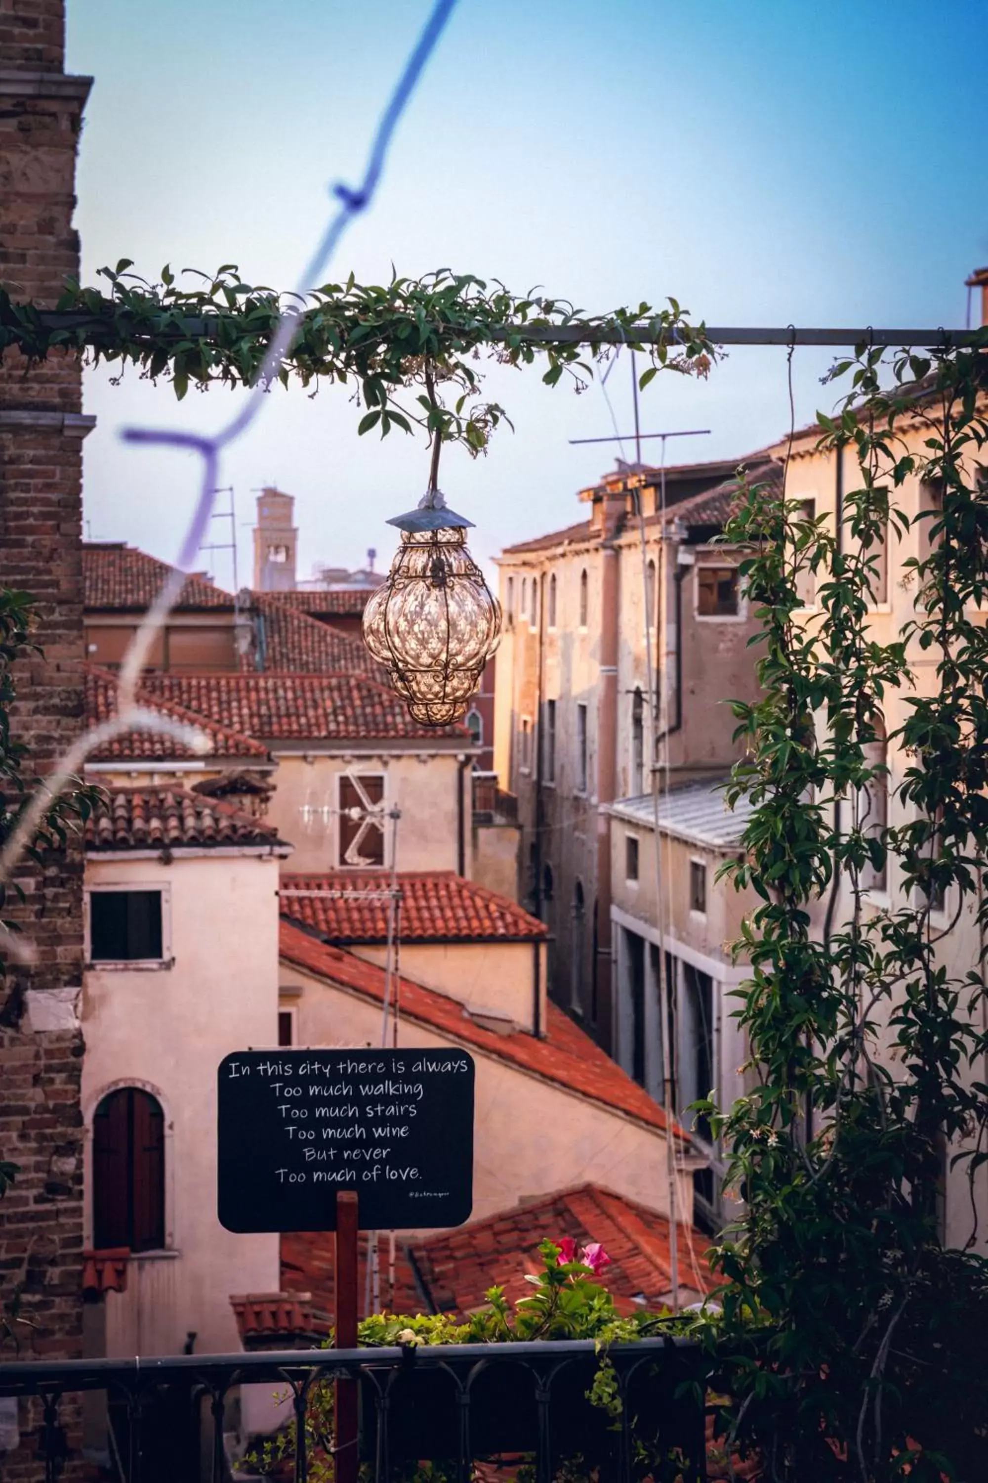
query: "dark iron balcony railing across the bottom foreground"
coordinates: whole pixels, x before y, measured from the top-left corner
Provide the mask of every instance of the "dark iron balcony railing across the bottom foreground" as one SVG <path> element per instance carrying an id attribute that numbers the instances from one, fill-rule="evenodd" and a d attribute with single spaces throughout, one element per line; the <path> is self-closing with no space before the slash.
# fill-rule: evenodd
<path id="1" fill-rule="evenodd" d="M 102 1470 L 87 1476 L 110 1483 L 264 1476 L 256 1461 L 237 1459 L 244 1387 L 281 1406 L 286 1456 L 271 1476 L 329 1479 L 333 1439 L 313 1427 L 313 1393 L 336 1379 L 358 1384 L 361 1477 L 375 1483 L 410 1479 L 422 1461 L 450 1483 L 514 1477 L 520 1461 L 533 1464 L 538 1483 L 573 1465 L 567 1477 L 584 1468 L 609 1483 L 704 1483 L 710 1357 L 674 1338 L 613 1345 L 607 1357 L 621 1401 L 613 1413 L 587 1394 L 600 1364 L 590 1341 L 12 1363 L 0 1364 L 0 1396 L 31 1397 L 21 1446 L 46 1483 L 81 1455 Z M 93 1428 L 102 1449 L 93 1450 Z M 492 1459 L 507 1474 L 475 1473 Z"/>

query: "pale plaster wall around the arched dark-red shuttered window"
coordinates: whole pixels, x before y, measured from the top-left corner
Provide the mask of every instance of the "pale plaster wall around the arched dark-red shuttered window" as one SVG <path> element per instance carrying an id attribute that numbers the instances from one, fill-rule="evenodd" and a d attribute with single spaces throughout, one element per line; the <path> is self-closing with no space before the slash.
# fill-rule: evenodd
<path id="1" fill-rule="evenodd" d="M 166 1126 L 166 1249 L 138 1256 L 107 1298 L 107 1354 L 240 1348 L 234 1292 L 276 1292 L 277 1235 L 234 1235 L 216 1219 L 216 1066 L 277 1044 L 277 884 L 271 857 L 96 860 L 86 887 L 164 887 L 167 968 L 89 968 L 83 991 L 86 1244 L 92 1244 L 92 1120 L 117 1086 L 151 1091 Z"/>

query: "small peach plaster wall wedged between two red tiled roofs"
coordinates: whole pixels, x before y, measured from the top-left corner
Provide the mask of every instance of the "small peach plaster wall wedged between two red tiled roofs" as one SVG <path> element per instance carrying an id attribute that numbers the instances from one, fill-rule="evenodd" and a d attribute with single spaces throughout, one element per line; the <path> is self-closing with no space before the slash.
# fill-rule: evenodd
<path id="1" fill-rule="evenodd" d="M 387 948 L 353 943 L 348 949 L 367 962 L 385 965 Z M 535 952 L 530 942 L 401 943 L 401 973 L 427 989 L 447 994 L 475 1011 L 510 1016 L 533 1029 Z M 545 1026 L 545 943 L 538 945 L 539 1025 Z"/>

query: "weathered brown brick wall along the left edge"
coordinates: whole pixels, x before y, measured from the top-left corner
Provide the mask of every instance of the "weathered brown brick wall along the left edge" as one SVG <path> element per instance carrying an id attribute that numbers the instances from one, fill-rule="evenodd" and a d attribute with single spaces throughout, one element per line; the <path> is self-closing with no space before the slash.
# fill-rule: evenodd
<path id="1" fill-rule="evenodd" d="M 89 79 L 67 77 L 62 65 L 64 0 L 0 0 L 0 282 L 40 304 L 53 304 L 65 274 L 79 271 L 76 148 Z M 90 426 L 74 357 L 56 354 L 25 374 L 7 351 L 0 584 L 40 604 L 44 654 L 18 666 L 15 709 L 39 773 L 81 727 L 81 439 Z M 37 961 L 0 983 L 0 1157 L 22 1169 L 0 1204 L 0 1357 L 81 1352 L 81 871 L 76 848 L 21 868 L 16 915 Z M 64 1419 L 71 1446 L 77 1418 Z M 22 1415 L 22 1425 L 36 1421 Z M 25 1434 L 4 1453 L 4 1480 L 39 1476 L 36 1446 Z"/>

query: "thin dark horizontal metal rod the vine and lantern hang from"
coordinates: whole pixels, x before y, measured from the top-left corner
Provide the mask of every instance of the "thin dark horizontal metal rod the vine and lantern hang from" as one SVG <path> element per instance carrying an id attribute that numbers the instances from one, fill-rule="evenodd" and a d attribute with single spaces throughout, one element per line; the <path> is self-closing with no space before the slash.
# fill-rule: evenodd
<path id="1" fill-rule="evenodd" d="M 76 329 L 83 325 L 99 325 L 107 322 L 105 314 L 93 314 L 84 308 L 41 310 L 39 314 L 44 329 Z M 157 334 L 173 334 L 176 340 L 190 335 L 207 335 L 219 323 L 236 323 L 237 316 L 198 314 L 172 323 Z M 437 326 L 441 332 L 443 326 Z M 715 346 L 831 346 L 853 347 L 874 346 L 895 349 L 949 349 L 973 346 L 979 337 L 978 329 L 947 329 L 939 325 L 936 329 L 875 329 L 864 325 L 858 329 L 800 329 L 794 325 L 779 325 L 770 328 L 745 328 L 736 325 L 705 325 L 707 338 Z M 575 320 L 569 325 L 492 325 L 487 335 L 493 341 L 514 340 L 533 346 L 653 346 L 662 340 L 668 346 L 681 343 L 677 331 L 656 329 L 652 325 L 628 325 L 618 328 L 613 325 L 588 325 Z M 139 329 L 136 338 L 141 337 Z"/>

